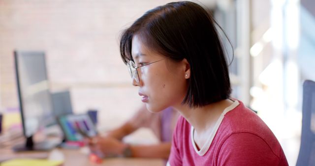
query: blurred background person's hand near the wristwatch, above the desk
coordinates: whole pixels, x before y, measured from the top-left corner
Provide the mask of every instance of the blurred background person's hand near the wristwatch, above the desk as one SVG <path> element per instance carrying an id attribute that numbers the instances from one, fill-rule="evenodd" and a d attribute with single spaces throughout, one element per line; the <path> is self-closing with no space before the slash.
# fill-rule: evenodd
<path id="1" fill-rule="evenodd" d="M 117 157 L 122 156 L 126 144 L 113 137 L 96 136 L 88 140 L 92 153 L 100 157 Z"/>

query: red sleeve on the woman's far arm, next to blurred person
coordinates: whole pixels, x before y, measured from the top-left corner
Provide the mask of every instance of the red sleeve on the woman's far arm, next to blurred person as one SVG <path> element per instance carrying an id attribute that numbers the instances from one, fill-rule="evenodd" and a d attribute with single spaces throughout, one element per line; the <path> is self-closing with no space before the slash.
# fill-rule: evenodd
<path id="1" fill-rule="evenodd" d="M 183 117 L 181 116 L 177 124 L 175 126 L 174 132 L 173 132 L 173 137 L 172 137 L 172 146 L 171 146 L 171 152 L 168 158 L 168 165 L 169 166 L 182 166 L 182 160 L 181 160 L 181 154 L 180 154 L 180 131 L 181 131 L 181 124 L 183 121 Z"/>

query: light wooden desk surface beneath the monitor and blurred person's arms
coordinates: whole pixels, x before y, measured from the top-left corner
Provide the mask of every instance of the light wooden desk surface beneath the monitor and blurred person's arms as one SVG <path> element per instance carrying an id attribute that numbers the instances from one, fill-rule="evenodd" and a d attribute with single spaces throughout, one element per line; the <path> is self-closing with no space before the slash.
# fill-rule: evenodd
<path id="1" fill-rule="evenodd" d="M 23 139 L 21 139 L 23 140 Z M 49 152 L 19 152 L 14 153 L 11 144 L 0 147 L 0 161 L 7 158 L 21 157 L 39 157 L 46 158 Z M 106 158 L 101 164 L 90 162 L 88 155 L 80 152 L 80 150 L 60 149 L 56 148 L 64 156 L 63 166 L 165 166 L 162 159 L 144 159 L 144 158 Z"/>

